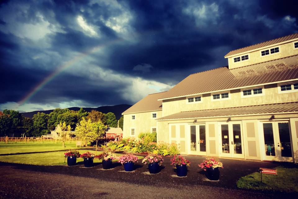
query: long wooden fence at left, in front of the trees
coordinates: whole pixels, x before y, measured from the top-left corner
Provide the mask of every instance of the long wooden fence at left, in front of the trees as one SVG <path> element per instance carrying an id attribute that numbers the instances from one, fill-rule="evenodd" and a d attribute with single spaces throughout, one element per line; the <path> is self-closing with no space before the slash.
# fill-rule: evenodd
<path id="1" fill-rule="evenodd" d="M 80 138 L 70 137 L 66 142 L 75 142 L 79 141 Z M 60 142 L 60 139 L 51 138 L 51 137 L 0 137 L 0 143 L 44 143 L 44 142 Z"/>

